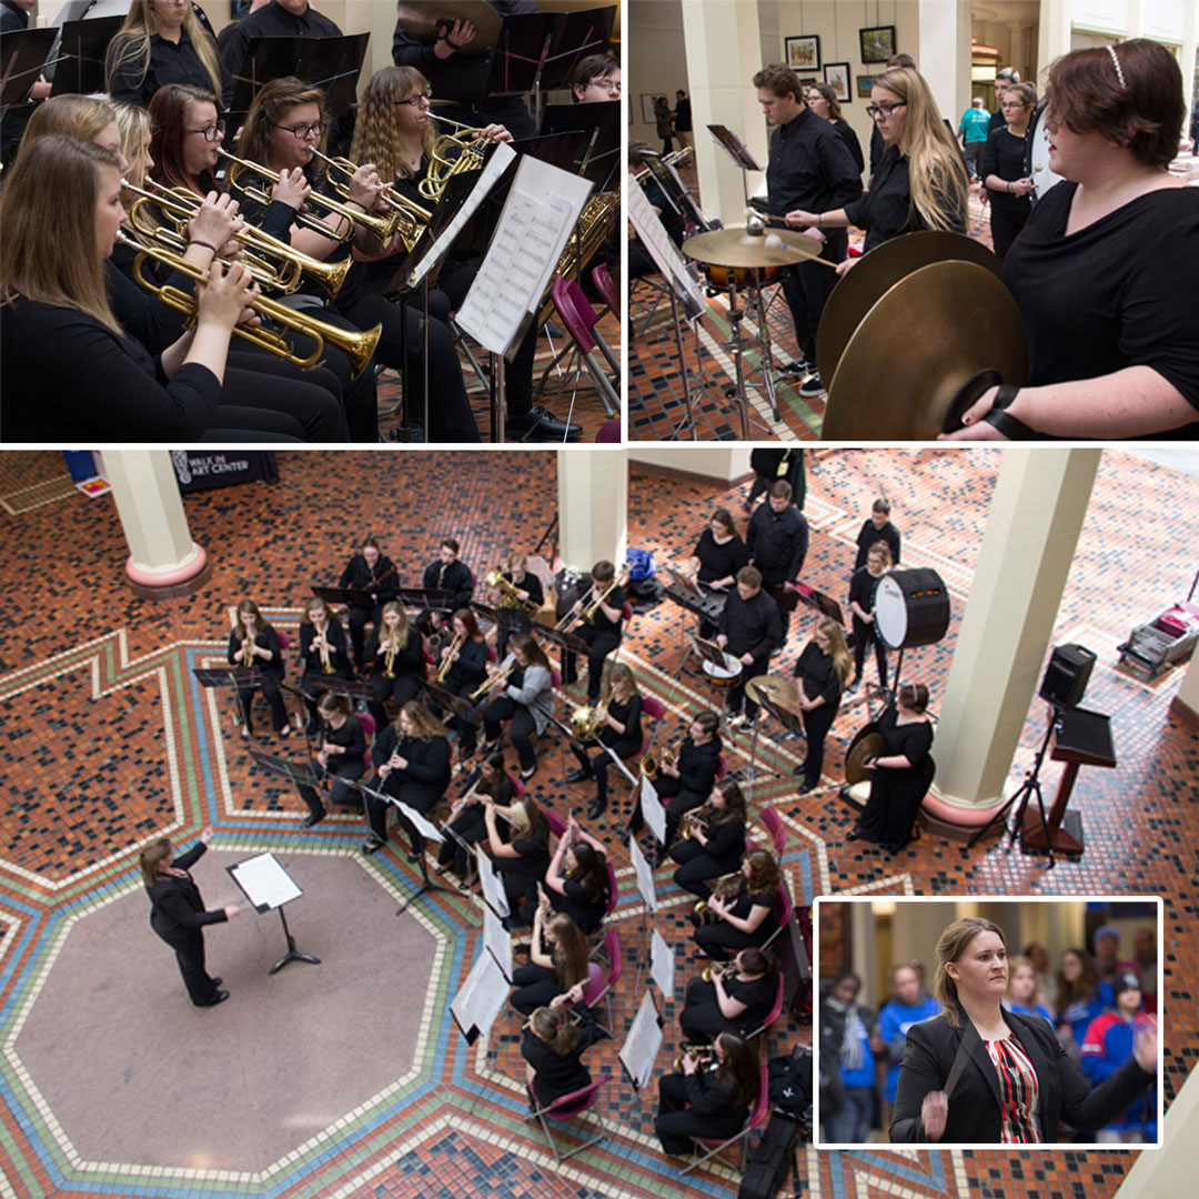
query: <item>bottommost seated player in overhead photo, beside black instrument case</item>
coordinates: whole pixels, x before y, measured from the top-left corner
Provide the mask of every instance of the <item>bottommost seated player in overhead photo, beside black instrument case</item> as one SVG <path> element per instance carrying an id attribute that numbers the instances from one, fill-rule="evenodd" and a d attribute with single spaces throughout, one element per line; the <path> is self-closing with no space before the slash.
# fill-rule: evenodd
<path id="1" fill-rule="evenodd" d="M 735 1137 L 758 1102 L 760 1085 L 758 1054 L 735 1032 L 722 1032 L 709 1055 L 687 1053 L 680 1072 L 658 1079 L 653 1131 L 662 1151 L 683 1157 L 695 1137 Z"/>

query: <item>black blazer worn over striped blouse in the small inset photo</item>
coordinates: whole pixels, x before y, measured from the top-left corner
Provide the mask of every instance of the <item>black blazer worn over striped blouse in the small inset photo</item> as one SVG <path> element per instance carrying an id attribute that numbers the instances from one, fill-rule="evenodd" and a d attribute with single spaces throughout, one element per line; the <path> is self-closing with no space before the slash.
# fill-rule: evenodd
<path id="1" fill-rule="evenodd" d="M 969 1060 L 950 1095 L 948 1120 L 940 1144 L 999 1144 L 1002 1127 L 999 1074 L 977 1029 L 969 1019 L 963 1019 L 965 1028 L 954 1029 L 942 1012 L 908 1030 L 903 1065 L 899 1067 L 899 1089 L 891 1111 L 892 1143 L 924 1141 L 921 1104 L 929 1091 L 944 1089 L 953 1068 L 958 1046 L 965 1043 Z M 1037 1072 L 1041 1134 L 1046 1141 L 1058 1139 L 1060 1120 L 1074 1128 L 1102 1128 L 1152 1085 L 1156 1078 L 1156 1074 L 1145 1073 L 1131 1059 L 1092 1090 L 1081 1071 L 1058 1044 L 1058 1038 L 1046 1020 L 1038 1016 L 1020 1016 L 1007 1010 L 1004 1011 L 1004 1019 Z"/>

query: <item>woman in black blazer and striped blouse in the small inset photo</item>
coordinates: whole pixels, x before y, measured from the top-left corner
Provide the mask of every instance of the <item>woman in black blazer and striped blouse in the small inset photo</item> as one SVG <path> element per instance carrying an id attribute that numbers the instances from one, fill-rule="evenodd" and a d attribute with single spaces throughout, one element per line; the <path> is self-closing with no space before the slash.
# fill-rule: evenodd
<path id="1" fill-rule="evenodd" d="M 1102 1128 L 1152 1085 L 1157 1035 L 1093 1090 L 1040 1017 L 1006 1011 L 1007 946 L 989 920 L 957 920 L 936 942 L 945 1011 L 908 1029 L 891 1113 L 893 1143 L 1042 1144 L 1059 1121 Z"/>

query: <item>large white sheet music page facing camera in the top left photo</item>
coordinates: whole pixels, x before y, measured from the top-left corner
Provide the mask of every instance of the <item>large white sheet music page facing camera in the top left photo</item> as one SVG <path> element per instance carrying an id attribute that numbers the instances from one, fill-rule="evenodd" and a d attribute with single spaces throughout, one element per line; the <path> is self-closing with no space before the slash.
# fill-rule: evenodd
<path id="1" fill-rule="evenodd" d="M 457 324 L 493 354 L 506 354 L 546 295 L 592 185 L 525 155 L 483 265 Z"/>

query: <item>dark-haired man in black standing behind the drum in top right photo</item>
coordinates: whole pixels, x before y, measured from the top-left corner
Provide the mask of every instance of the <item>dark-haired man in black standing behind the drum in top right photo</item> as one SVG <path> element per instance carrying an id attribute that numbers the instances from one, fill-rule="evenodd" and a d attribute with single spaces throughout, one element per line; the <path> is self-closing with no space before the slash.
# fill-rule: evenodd
<path id="1" fill-rule="evenodd" d="M 772 64 L 753 77 L 753 85 L 766 120 L 776 126 L 766 167 L 771 216 L 783 217 L 794 209 L 826 212 L 856 200 L 862 194 L 857 167 L 840 134 L 803 102 L 799 76 L 790 67 Z M 849 235 L 844 229 L 808 233 L 824 243 L 820 257 L 826 263 L 845 260 Z M 836 273 L 818 263 L 801 263 L 783 272 L 783 293 L 800 347 L 799 370 L 815 362 L 817 327 L 836 282 Z M 823 391 L 819 375 L 800 387 L 801 396 Z"/>

